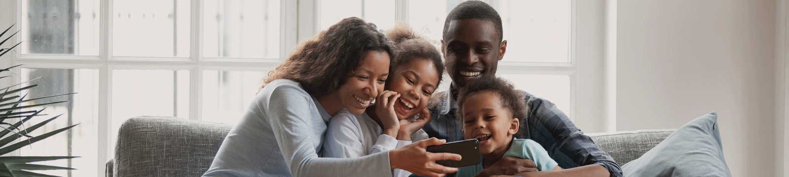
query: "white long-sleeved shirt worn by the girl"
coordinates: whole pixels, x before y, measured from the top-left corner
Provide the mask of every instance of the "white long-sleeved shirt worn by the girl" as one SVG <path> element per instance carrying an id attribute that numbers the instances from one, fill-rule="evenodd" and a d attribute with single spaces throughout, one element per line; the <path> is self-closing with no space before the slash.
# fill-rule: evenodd
<path id="1" fill-rule="evenodd" d="M 411 141 L 400 141 L 383 134 L 383 129 L 367 113 L 354 116 L 342 109 L 329 120 L 323 138 L 323 157 L 356 158 L 387 152 L 428 138 L 421 129 L 411 135 Z M 392 176 L 409 176 L 411 172 L 394 169 Z"/>

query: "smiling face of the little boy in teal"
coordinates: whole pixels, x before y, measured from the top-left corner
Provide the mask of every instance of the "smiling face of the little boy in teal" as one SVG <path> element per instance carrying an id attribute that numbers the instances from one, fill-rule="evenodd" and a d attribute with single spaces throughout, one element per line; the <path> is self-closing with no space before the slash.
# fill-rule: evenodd
<path id="1" fill-rule="evenodd" d="M 518 119 L 503 107 L 499 94 L 482 91 L 469 94 L 462 103 L 463 138 L 477 138 L 484 158 L 501 157 L 510 149 L 518 132 Z"/>

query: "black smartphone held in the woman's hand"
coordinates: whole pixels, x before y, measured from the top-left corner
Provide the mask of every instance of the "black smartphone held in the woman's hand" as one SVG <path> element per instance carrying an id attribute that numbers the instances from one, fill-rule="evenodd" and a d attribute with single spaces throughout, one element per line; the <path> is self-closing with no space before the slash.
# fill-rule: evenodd
<path id="1" fill-rule="evenodd" d="M 447 142 L 443 145 L 428 146 L 431 153 L 457 153 L 461 160 L 436 160 L 436 164 L 451 168 L 465 167 L 481 162 L 480 142 L 477 139 L 466 139 L 458 142 Z"/>

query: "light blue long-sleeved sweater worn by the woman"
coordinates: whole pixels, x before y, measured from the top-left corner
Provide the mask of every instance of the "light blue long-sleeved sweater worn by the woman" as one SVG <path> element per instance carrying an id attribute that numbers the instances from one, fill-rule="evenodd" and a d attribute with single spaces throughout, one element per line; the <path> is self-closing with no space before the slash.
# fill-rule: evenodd
<path id="1" fill-rule="evenodd" d="M 318 157 L 329 119 L 301 84 L 271 81 L 227 134 L 203 176 L 391 176 L 388 151 Z"/>

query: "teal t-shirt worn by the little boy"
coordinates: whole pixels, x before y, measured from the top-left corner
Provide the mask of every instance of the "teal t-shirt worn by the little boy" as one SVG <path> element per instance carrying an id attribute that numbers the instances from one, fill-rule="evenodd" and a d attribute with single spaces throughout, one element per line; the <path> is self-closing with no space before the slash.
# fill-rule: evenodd
<path id="1" fill-rule="evenodd" d="M 534 165 L 540 171 L 552 170 L 559 165 L 548 156 L 548 151 L 540 146 L 540 143 L 531 139 L 512 139 L 512 146 L 504 153 L 504 157 L 518 157 L 534 161 Z M 482 162 L 479 164 L 461 167 L 458 170 L 458 177 L 474 176 L 482 171 Z"/>

